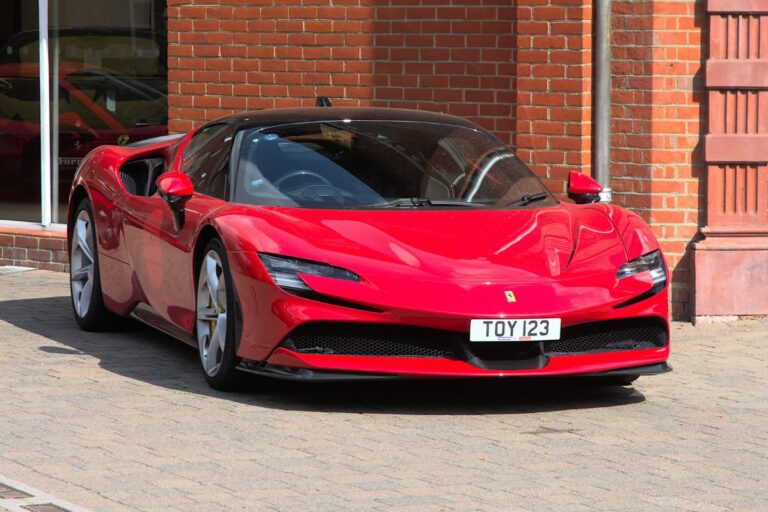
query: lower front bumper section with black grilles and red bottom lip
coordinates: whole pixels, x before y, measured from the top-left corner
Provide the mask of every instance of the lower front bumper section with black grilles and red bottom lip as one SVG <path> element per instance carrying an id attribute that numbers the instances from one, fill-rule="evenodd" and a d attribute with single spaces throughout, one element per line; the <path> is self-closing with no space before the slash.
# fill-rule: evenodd
<path id="1" fill-rule="evenodd" d="M 405 325 L 310 322 L 248 369 L 413 377 L 555 376 L 664 363 L 668 324 L 658 317 L 592 322 L 557 341 L 472 343 L 467 333 Z M 265 370 L 266 369 L 266 370 Z M 302 373 L 302 372 L 299 372 Z M 303 372 L 306 373 L 306 372 Z"/>

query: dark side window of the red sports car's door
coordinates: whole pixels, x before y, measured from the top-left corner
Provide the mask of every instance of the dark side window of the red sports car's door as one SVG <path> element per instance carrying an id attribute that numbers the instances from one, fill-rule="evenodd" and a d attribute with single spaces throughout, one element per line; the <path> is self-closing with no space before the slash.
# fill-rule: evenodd
<path id="1" fill-rule="evenodd" d="M 183 171 L 189 175 L 196 192 L 227 198 L 231 150 L 232 130 L 225 124 L 208 126 L 189 141 L 184 151 Z"/>

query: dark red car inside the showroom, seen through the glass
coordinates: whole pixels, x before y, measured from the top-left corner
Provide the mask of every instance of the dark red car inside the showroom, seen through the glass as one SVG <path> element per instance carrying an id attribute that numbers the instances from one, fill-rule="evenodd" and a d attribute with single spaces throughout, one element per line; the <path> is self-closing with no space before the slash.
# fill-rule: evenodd
<path id="1" fill-rule="evenodd" d="M 40 69 L 0 64 L 0 197 L 28 199 L 40 182 Z M 77 166 L 102 144 L 126 144 L 168 133 L 167 97 L 134 78 L 62 63 L 58 83 L 59 180 L 64 192 Z"/>

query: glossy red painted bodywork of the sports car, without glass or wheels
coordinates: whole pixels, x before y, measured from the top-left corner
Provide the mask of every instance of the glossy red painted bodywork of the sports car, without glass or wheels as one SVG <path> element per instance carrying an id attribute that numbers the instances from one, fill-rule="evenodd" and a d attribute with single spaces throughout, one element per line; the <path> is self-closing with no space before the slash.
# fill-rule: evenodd
<path id="1" fill-rule="evenodd" d="M 127 315 L 150 306 L 191 337 L 194 250 L 213 229 L 227 251 L 242 314 L 238 356 L 280 366 L 414 376 L 562 375 L 663 362 L 653 350 L 552 357 L 536 370 L 484 370 L 448 359 L 310 355 L 279 347 L 306 322 L 403 324 L 468 333 L 471 319 L 558 317 L 563 327 L 601 320 L 668 318 L 667 289 L 648 291 L 648 273 L 617 269 L 658 248 L 638 216 L 614 205 L 559 204 L 513 210 L 319 210 L 244 206 L 195 193 L 176 231 L 157 194 L 129 194 L 119 177 L 128 160 L 161 156 L 180 169 L 189 140 L 139 148 L 106 146 L 81 166 L 72 196 L 93 203 L 107 307 Z M 71 208 L 74 208 L 72 205 Z M 71 215 L 71 213 L 70 213 Z M 258 253 L 348 269 L 359 282 L 302 276 L 329 298 L 367 311 L 292 295 L 269 277 Z M 513 290 L 517 301 L 507 302 Z"/>

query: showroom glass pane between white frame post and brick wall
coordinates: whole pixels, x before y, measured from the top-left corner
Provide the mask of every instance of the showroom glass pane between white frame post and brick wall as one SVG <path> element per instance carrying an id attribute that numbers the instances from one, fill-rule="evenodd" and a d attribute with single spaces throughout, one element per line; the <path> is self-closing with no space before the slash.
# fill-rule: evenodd
<path id="1" fill-rule="evenodd" d="M 50 0 L 53 220 L 83 157 L 168 133 L 165 0 Z M 24 62 L 38 40 L 14 46 Z"/>

